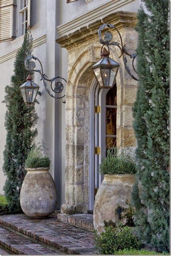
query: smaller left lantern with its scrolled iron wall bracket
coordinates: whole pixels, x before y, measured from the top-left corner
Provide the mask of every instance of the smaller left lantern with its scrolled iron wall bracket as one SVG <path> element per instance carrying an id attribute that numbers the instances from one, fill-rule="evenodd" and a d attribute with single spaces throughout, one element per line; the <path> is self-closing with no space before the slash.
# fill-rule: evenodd
<path id="1" fill-rule="evenodd" d="M 40 66 L 41 66 L 41 70 L 36 70 L 34 69 L 36 64 L 34 61 L 31 61 L 31 59 L 33 60 L 38 60 L 38 62 L 40 63 Z M 38 84 L 35 84 L 33 81 L 32 81 L 32 75 L 31 73 L 32 72 L 38 72 L 41 76 L 41 79 L 40 80 L 43 80 L 43 84 L 44 84 L 44 87 L 45 87 L 45 90 L 46 92 L 52 97 L 52 98 L 55 98 L 55 99 L 62 99 L 62 103 L 66 103 L 65 100 L 63 100 L 64 96 L 60 96 L 60 97 L 56 97 L 54 96 L 53 94 L 50 93 L 50 90 L 48 89 L 47 87 L 47 82 L 50 82 L 50 87 L 52 89 L 52 91 L 55 93 L 55 94 L 58 94 L 58 93 L 61 93 L 64 89 L 64 85 L 63 83 L 61 82 L 62 80 L 64 80 L 65 82 L 67 82 L 64 78 L 60 77 L 60 76 L 55 76 L 54 78 L 52 79 L 48 79 L 48 77 L 46 76 L 46 74 L 44 74 L 43 72 L 43 67 L 42 67 L 42 63 L 40 62 L 40 60 L 33 56 L 33 55 L 30 55 L 26 58 L 25 60 L 25 68 L 26 70 L 28 70 L 30 72 L 30 74 L 28 75 L 27 77 L 27 81 L 20 85 L 20 91 L 21 91 L 21 94 L 22 94 L 22 97 L 23 97 L 23 100 L 25 103 L 34 103 L 35 99 L 36 99 L 36 96 L 38 94 L 38 90 L 39 90 L 39 86 Z M 61 81 L 58 81 L 55 83 L 55 87 L 53 88 L 52 87 L 52 83 L 56 80 L 56 79 L 60 79 Z"/>

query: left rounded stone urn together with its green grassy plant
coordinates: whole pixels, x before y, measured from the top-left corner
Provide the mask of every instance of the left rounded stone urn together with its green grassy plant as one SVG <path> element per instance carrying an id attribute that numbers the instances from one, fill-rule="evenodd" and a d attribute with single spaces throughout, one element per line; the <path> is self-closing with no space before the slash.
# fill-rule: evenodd
<path id="1" fill-rule="evenodd" d="M 49 169 L 50 158 L 44 146 L 33 146 L 26 159 L 27 174 L 20 192 L 21 208 L 31 218 L 45 218 L 56 208 L 56 189 Z"/>

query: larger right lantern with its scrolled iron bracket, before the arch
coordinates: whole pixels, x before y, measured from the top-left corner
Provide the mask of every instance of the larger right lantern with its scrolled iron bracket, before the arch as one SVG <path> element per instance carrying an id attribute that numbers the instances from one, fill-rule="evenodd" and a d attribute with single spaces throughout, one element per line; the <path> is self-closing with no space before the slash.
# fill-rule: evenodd
<path id="1" fill-rule="evenodd" d="M 119 38 L 120 38 L 120 43 L 119 42 L 112 42 L 112 33 L 107 31 L 105 32 L 105 36 L 104 38 L 102 38 L 101 36 L 101 30 L 103 30 L 105 27 L 108 28 L 114 28 L 117 33 L 119 34 Z M 133 74 L 131 73 L 129 67 L 127 66 L 127 56 L 130 56 L 130 58 L 132 58 L 132 66 L 133 66 L 133 70 L 136 72 L 135 68 L 134 68 L 134 60 L 135 57 L 137 56 L 136 53 L 133 54 L 129 54 L 126 49 L 125 49 L 125 45 L 123 45 L 123 41 L 122 41 L 122 37 L 121 34 L 119 33 L 119 30 L 112 24 L 103 24 L 99 30 L 98 30 L 98 35 L 99 35 L 99 42 L 101 44 L 103 44 L 103 46 L 107 46 L 108 50 L 106 48 L 103 48 L 103 46 L 101 47 L 101 60 L 99 60 L 97 63 L 95 63 L 91 68 L 94 71 L 95 77 L 97 78 L 97 81 L 99 83 L 100 88 L 111 88 L 114 86 L 115 84 L 115 79 L 117 76 L 117 72 L 119 70 L 119 63 L 117 63 L 115 60 L 112 60 L 111 58 L 109 58 L 109 54 L 110 54 L 110 46 L 118 46 L 121 54 L 119 56 L 119 58 L 123 58 L 123 63 L 125 66 L 125 69 L 127 70 L 129 76 L 131 76 L 131 78 L 133 78 L 134 80 L 139 81 L 135 76 L 133 76 Z M 137 73 L 137 72 L 136 72 Z"/>

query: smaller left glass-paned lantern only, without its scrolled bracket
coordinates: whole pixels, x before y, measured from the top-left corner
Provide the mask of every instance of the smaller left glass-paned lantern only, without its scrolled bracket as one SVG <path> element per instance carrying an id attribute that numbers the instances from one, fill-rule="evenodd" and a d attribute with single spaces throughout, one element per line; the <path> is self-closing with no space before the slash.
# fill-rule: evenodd
<path id="1" fill-rule="evenodd" d="M 32 81 L 32 75 L 29 74 L 26 82 L 20 85 L 21 94 L 25 103 L 33 103 L 39 90 L 38 84 Z"/>

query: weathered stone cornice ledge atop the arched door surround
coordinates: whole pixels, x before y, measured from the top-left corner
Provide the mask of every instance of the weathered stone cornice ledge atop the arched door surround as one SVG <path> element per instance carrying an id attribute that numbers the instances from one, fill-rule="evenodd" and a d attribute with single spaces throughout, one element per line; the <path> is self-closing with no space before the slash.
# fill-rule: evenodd
<path id="1" fill-rule="evenodd" d="M 118 30 L 126 27 L 135 27 L 137 14 L 135 12 L 114 12 L 100 20 L 74 31 L 71 34 L 58 38 L 56 42 L 67 50 L 76 47 L 78 44 L 97 37 L 98 28 L 104 23 L 112 23 Z"/>

